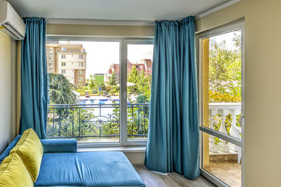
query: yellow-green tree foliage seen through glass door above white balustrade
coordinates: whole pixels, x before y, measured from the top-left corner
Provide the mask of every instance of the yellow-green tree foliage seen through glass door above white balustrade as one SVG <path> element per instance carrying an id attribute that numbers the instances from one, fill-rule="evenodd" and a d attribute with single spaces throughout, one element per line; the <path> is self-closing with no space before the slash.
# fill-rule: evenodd
<path id="1" fill-rule="evenodd" d="M 241 36 L 234 34 L 234 47 L 226 41 L 209 46 L 209 102 L 241 102 Z"/>

